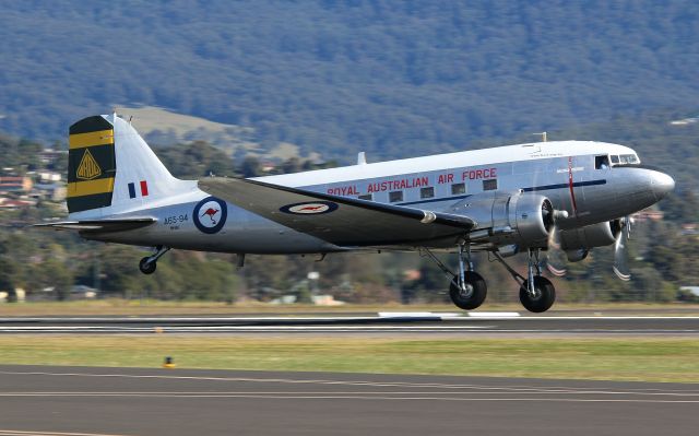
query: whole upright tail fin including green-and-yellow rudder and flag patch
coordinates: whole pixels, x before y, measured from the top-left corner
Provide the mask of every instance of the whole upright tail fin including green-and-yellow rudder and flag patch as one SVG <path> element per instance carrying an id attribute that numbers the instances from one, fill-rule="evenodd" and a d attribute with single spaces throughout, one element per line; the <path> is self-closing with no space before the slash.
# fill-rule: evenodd
<path id="1" fill-rule="evenodd" d="M 133 127 L 116 114 L 72 125 L 68 156 L 71 217 L 139 210 L 182 188 L 183 180 L 173 177 Z"/>

